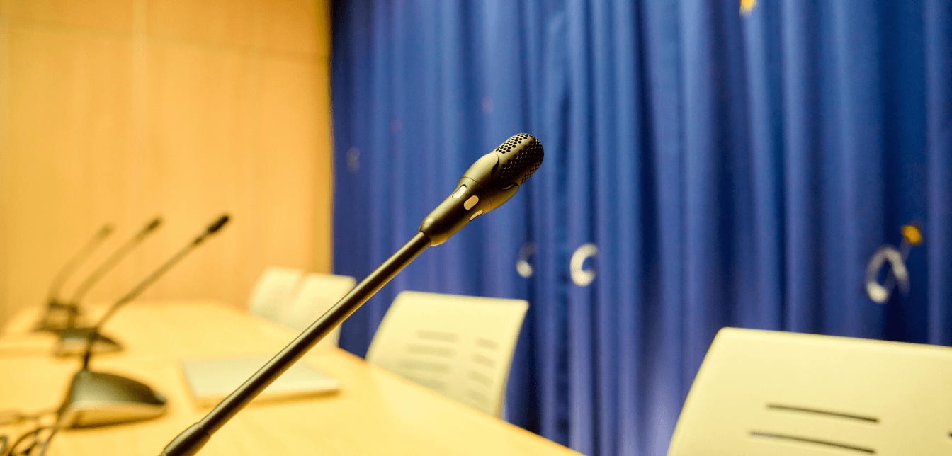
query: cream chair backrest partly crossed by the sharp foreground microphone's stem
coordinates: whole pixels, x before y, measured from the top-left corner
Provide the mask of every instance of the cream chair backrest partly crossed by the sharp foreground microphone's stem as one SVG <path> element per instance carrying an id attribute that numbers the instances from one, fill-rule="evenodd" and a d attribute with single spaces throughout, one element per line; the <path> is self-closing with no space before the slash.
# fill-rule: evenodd
<path id="1" fill-rule="evenodd" d="M 282 314 L 281 323 L 298 331 L 307 329 L 355 285 L 357 281 L 346 275 L 307 274 L 297 294 L 291 298 L 290 304 Z M 336 347 L 340 330 L 341 327 L 335 327 L 319 346 Z"/>

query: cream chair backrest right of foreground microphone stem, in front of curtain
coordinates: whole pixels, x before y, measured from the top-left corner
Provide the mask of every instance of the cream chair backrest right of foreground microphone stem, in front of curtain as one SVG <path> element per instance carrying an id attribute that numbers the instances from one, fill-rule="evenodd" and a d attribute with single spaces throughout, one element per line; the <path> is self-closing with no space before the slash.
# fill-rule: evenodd
<path id="1" fill-rule="evenodd" d="M 527 308 L 517 299 L 404 291 L 387 310 L 367 361 L 501 416 Z"/>

